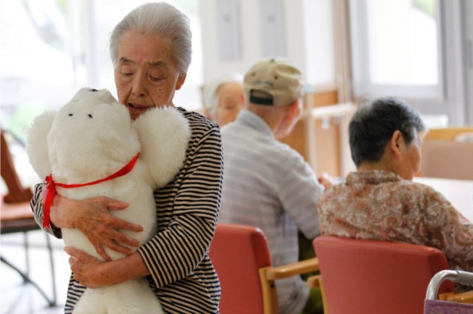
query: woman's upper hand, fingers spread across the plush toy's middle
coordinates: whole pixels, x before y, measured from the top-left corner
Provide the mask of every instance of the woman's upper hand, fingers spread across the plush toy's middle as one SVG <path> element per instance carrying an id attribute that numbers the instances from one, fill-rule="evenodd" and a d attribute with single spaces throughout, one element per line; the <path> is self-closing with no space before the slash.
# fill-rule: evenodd
<path id="1" fill-rule="evenodd" d="M 119 230 L 143 231 L 143 227 L 116 218 L 109 210 L 121 211 L 127 203 L 107 197 L 94 197 L 76 201 L 56 194 L 51 208 L 51 221 L 56 227 L 75 228 L 83 232 L 104 260 L 112 260 L 104 247 L 112 251 L 133 253 L 127 246 L 139 246 L 136 239 L 127 237 Z"/>

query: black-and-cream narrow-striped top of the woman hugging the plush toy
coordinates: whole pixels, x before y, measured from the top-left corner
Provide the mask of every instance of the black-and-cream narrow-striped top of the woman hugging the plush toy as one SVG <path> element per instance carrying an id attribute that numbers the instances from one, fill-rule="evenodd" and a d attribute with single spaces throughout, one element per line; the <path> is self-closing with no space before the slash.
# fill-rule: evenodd
<path id="1" fill-rule="evenodd" d="M 192 134 L 184 166 L 173 182 L 155 191 L 158 232 L 138 249 L 150 272 L 150 287 L 165 313 L 218 313 L 220 283 L 208 257 L 220 207 L 222 148 L 217 124 L 179 108 Z M 35 187 L 32 208 L 42 225 L 43 184 Z M 52 226 L 47 232 L 61 237 Z M 172 263 L 166 262 L 172 260 Z M 69 282 L 65 313 L 85 287 Z"/>

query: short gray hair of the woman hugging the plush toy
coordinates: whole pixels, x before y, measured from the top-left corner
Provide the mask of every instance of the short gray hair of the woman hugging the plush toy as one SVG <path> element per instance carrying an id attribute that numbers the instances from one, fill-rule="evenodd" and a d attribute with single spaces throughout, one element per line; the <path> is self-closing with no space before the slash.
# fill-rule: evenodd
<path id="1" fill-rule="evenodd" d="M 165 2 L 138 6 L 118 23 L 110 37 L 110 56 L 118 62 L 119 40 L 128 31 L 155 34 L 171 39 L 173 56 L 181 73 L 187 73 L 192 58 L 192 32 L 187 16 Z"/>

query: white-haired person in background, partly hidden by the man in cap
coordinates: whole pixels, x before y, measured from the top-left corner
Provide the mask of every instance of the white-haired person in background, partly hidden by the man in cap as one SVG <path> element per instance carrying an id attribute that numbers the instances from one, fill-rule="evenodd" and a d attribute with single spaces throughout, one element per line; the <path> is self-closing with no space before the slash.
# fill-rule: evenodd
<path id="1" fill-rule="evenodd" d="M 229 73 L 212 80 L 204 88 L 204 114 L 223 127 L 235 120 L 244 108 L 243 76 Z"/>

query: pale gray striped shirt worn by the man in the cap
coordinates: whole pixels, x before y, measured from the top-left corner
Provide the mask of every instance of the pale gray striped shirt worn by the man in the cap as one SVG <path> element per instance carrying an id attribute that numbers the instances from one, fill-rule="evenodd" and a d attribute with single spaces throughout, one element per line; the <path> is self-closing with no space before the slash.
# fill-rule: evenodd
<path id="1" fill-rule="evenodd" d="M 222 128 L 224 183 L 220 222 L 259 227 L 268 237 L 273 265 L 297 262 L 297 230 L 320 234 L 317 202 L 323 191 L 302 156 L 277 141 L 268 125 L 241 111 Z M 308 289 L 299 276 L 277 281 L 280 313 L 304 307 Z"/>

